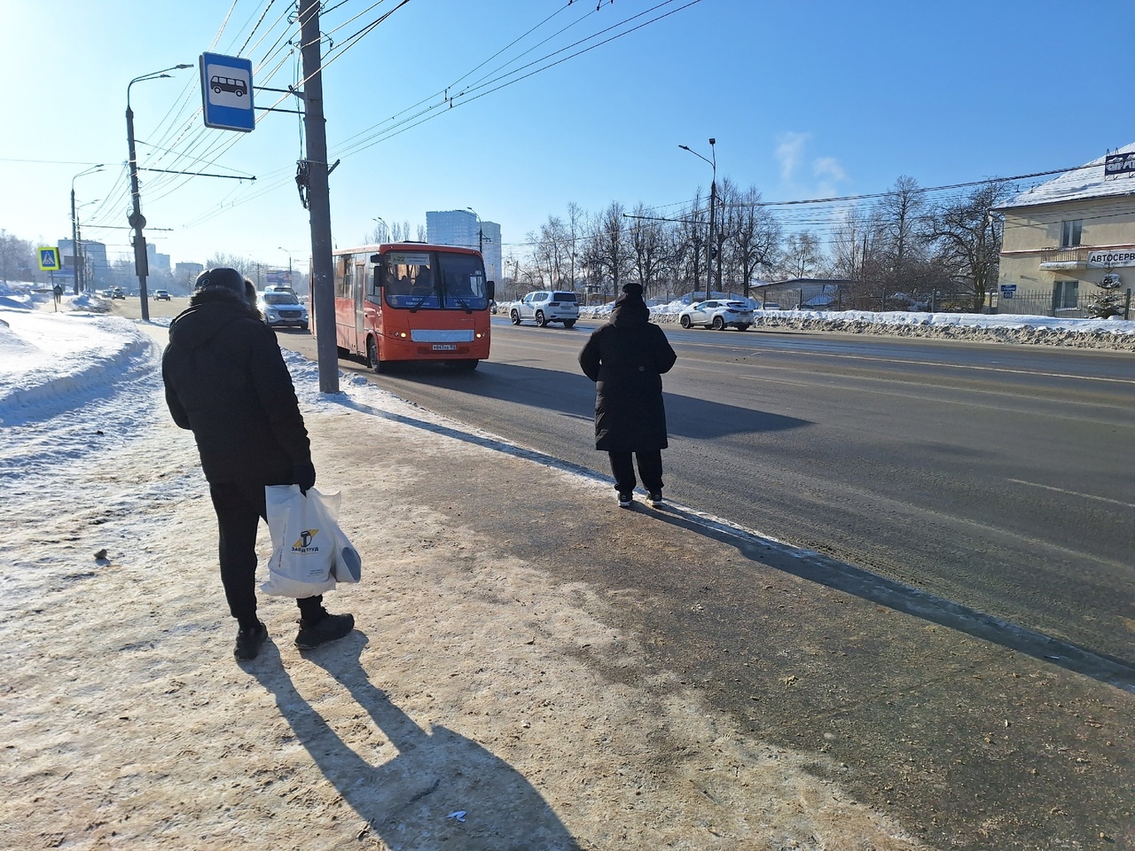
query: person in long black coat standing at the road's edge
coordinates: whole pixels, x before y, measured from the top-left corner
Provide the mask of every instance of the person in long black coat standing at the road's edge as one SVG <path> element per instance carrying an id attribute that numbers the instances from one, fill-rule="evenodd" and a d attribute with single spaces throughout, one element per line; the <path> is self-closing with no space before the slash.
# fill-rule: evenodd
<path id="1" fill-rule="evenodd" d="M 579 353 L 583 374 L 595 381 L 595 448 L 606 449 L 619 505 L 633 504 L 634 464 L 651 506 L 662 504 L 662 450 L 666 408 L 662 373 L 678 355 L 662 329 L 650 322 L 642 287 L 628 284 L 615 300 L 611 320 L 592 331 Z"/>

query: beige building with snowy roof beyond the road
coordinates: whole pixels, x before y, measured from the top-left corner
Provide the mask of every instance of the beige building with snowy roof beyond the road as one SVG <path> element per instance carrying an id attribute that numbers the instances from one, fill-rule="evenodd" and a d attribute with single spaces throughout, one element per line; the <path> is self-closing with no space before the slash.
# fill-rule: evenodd
<path id="1" fill-rule="evenodd" d="M 1086 317 L 1117 276 L 1135 288 L 1135 143 L 998 208 L 1004 214 L 998 313 Z"/>

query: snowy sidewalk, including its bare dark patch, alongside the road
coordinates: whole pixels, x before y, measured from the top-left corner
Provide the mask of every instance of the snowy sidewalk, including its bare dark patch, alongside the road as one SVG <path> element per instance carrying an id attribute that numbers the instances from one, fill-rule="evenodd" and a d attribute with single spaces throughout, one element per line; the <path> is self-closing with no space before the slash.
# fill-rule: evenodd
<path id="1" fill-rule="evenodd" d="M 620 511 L 607 483 L 371 385 L 323 397 L 291 354 L 318 487 L 343 489 L 364 558 L 327 603 L 358 629 L 301 655 L 294 604 L 262 597 L 271 640 L 237 665 L 212 507 L 161 398 L 165 329 L 133 328 L 152 343 L 123 329 L 82 404 L 45 395 L 5 427 L 5 846 L 980 848 L 934 814 L 1004 789 L 957 773 L 1010 748 L 1041 773 L 990 811 L 994 834 L 1060 803 L 1083 824 L 1081 795 L 1109 836 L 1129 812 L 1130 694 L 777 570 L 679 509 Z M 613 563 L 672 597 L 603 581 Z M 748 719 L 707 697 L 697 648 L 690 672 L 661 665 L 661 633 L 636 626 L 697 596 L 707 564 L 737 587 L 686 617 L 767 600 L 734 648 L 762 671 Z"/>

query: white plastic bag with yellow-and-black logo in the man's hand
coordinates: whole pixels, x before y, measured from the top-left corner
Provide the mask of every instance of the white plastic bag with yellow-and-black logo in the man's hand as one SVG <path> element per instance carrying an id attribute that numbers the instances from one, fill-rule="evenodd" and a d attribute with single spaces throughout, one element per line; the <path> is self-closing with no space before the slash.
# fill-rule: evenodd
<path id="1" fill-rule="evenodd" d="M 268 561 L 268 581 L 260 589 L 276 597 L 314 597 L 335 588 L 335 522 L 339 514 L 339 494 L 320 494 L 299 485 L 269 485 L 264 488 L 268 532 L 272 555 Z M 340 533 L 342 534 L 342 533 Z"/>

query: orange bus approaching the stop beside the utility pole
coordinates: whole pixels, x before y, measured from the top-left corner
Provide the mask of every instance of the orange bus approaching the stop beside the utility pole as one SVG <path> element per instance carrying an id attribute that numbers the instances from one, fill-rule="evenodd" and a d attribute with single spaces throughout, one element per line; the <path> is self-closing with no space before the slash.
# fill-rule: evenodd
<path id="1" fill-rule="evenodd" d="M 340 356 L 363 357 L 376 372 L 406 361 L 474 370 L 489 356 L 494 283 L 479 251 L 389 243 L 337 250 L 333 259 Z"/>

